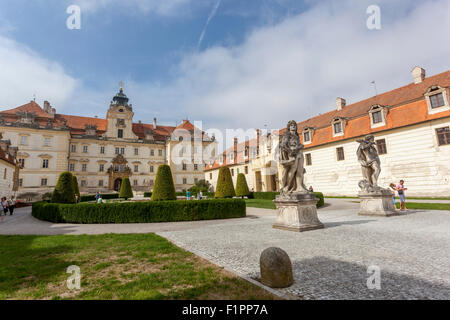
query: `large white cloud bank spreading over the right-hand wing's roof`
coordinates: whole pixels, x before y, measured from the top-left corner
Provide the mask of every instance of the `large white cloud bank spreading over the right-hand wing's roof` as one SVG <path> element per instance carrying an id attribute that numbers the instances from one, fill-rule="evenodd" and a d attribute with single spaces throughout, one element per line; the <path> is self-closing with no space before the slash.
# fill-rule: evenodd
<path id="1" fill-rule="evenodd" d="M 382 29 L 366 28 L 371 1 L 323 1 L 259 28 L 238 46 L 188 54 L 169 85 L 140 84 L 142 100 L 171 117 L 217 127 L 284 126 L 412 82 L 411 69 L 448 69 L 450 3 L 378 1 Z"/>

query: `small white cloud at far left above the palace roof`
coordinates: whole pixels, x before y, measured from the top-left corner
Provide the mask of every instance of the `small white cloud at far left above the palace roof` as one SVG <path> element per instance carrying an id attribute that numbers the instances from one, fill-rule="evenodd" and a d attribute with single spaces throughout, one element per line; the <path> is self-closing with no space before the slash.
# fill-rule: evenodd
<path id="1" fill-rule="evenodd" d="M 63 106 L 78 84 L 59 64 L 4 36 L 0 36 L 0 70 L 1 110 L 23 105 L 33 95 L 38 103 L 49 100 Z"/>

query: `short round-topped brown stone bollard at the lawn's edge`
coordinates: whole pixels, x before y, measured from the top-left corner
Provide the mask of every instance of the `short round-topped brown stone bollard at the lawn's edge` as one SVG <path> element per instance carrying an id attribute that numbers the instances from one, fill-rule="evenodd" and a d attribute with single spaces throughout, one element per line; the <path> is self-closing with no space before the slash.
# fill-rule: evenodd
<path id="1" fill-rule="evenodd" d="M 280 248 L 267 248 L 259 259 L 261 282 L 271 288 L 286 288 L 294 283 L 292 263 L 288 254 Z"/>

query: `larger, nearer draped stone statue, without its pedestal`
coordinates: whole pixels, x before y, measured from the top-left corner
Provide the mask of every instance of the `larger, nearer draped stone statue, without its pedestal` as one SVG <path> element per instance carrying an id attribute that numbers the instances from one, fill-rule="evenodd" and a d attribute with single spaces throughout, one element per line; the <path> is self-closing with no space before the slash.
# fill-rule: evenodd
<path id="1" fill-rule="evenodd" d="M 297 123 L 289 121 L 286 132 L 280 143 L 281 185 L 282 195 L 293 192 L 306 193 L 308 190 L 304 184 L 306 172 L 303 157 L 303 145 L 297 131 Z"/>

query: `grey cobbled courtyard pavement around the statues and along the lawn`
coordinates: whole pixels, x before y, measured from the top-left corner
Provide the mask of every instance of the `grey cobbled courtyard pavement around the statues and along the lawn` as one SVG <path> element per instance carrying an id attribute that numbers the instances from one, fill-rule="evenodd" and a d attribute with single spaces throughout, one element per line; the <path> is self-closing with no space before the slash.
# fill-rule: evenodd
<path id="1" fill-rule="evenodd" d="M 34 219 L 29 208 L 0 223 L 0 234 L 155 232 L 246 278 L 259 276 L 259 256 L 280 247 L 295 283 L 279 294 L 299 299 L 450 299 L 450 211 L 410 210 L 390 218 L 360 217 L 351 199 L 326 199 L 325 229 L 295 233 L 272 228 L 276 211 L 248 208 L 231 220 L 159 224 L 73 225 Z M 367 288 L 369 266 L 381 289 Z"/>

